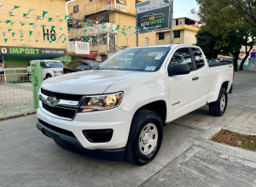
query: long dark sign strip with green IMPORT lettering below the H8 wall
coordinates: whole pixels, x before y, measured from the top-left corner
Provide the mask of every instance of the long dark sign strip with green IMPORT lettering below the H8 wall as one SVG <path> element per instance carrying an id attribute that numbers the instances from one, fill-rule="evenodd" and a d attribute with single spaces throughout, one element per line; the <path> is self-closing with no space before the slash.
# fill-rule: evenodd
<path id="1" fill-rule="evenodd" d="M 25 48 L 0 46 L 0 56 L 65 56 L 66 48 Z"/>

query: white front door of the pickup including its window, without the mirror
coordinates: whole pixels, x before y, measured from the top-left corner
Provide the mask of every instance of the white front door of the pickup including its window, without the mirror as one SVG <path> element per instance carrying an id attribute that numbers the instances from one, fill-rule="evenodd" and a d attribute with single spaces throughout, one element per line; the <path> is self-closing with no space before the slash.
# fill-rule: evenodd
<path id="1" fill-rule="evenodd" d="M 191 72 L 187 75 L 169 77 L 170 110 L 169 119 L 183 116 L 196 108 L 198 99 L 198 72 L 189 48 L 178 48 L 173 54 L 169 65 L 188 64 Z"/>

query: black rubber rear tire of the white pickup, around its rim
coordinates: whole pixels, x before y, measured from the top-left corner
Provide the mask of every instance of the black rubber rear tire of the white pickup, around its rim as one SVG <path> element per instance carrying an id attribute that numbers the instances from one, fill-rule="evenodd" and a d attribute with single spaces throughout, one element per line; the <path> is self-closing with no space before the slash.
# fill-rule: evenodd
<path id="1" fill-rule="evenodd" d="M 224 105 L 224 107 L 221 107 L 221 100 L 222 100 L 223 95 L 225 97 L 225 101 L 224 101 L 225 105 Z M 218 95 L 218 100 L 215 101 L 214 103 L 209 104 L 209 111 L 212 114 L 212 116 L 223 116 L 227 109 L 227 105 L 228 105 L 227 90 L 226 90 L 226 88 L 221 88 L 219 95 Z M 221 110 L 221 108 L 223 108 L 224 110 Z"/>

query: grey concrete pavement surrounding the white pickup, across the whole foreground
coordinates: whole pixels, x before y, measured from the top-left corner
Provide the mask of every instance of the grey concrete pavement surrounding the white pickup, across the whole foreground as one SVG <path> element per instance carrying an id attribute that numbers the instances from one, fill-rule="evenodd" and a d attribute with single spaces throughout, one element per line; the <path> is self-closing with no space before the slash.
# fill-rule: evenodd
<path id="1" fill-rule="evenodd" d="M 256 178 L 253 162 L 207 150 L 195 145 L 194 139 L 215 125 L 253 130 L 255 88 L 256 71 L 237 73 L 225 115 L 210 116 L 206 105 L 168 124 L 159 155 L 144 167 L 96 161 L 62 150 L 38 131 L 35 115 L 0 122 L 0 185 L 236 186 L 237 181 L 249 186 Z"/>

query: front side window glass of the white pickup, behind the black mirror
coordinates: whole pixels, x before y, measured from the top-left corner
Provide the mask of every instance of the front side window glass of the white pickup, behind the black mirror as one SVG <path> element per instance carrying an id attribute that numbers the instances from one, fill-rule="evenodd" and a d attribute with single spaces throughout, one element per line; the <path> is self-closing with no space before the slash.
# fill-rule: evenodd
<path id="1" fill-rule="evenodd" d="M 188 64 L 190 67 L 190 71 L 193 71 L 193 61 L 191 58 L 191 54 L 189 52 L 189 48 L 179 48 L 173 54 L 172 59 L 171 59 L 171 64 L 177 65 L 177 64 Z"/>

